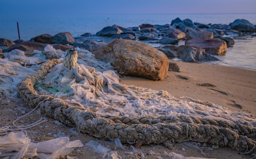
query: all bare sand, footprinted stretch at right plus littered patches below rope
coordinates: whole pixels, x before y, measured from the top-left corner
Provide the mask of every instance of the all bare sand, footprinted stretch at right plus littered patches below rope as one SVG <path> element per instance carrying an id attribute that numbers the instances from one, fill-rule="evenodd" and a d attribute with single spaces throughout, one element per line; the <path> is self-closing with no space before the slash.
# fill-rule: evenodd
<path id="1" fill-rule="evenodd" d="M 212 102 L 223 107 L 228 107 L 232 111 L 244 111 L 251 115 L 256 115 L 256 71 L 242 68 L 232 68 L 219 65 L 207 65 L 198 63 L 184 63 L 175 61 L 180 67 L 180 72 L 168 72 L 168 77 L 163 81 L 149 81 L 144 78 L 126 77 L 121 78 L 120 83 L 126 85 L 136 85 L 148 87 L 154 90 L 166 90 L 175 97 L 188 96 L 193 99 Z M 27 109 L 25 102 L 17 99 L 0 97 L 0 126 L 11 125 L 16 118 L 31 111 Z M 31 124 L 43 115 L 33 112 L 17 121 L 17 125 Z M 140 159 L 140 153 L 132 155 L 126 152 L 133 152 L 132 149 L 115 150 L 115 144 L 91 137 L 87 134 L 74 133 L 70 128 L 65 128 L 56 124 L 52 119 L 38 126 L 29 129 L 31 139 L 43 136 L 53 136 L 62 134 L 70 137 L 70 140 L 80 139 L 83 144 L 90 140 L 99 141 L 104 146 L 110 146 L 110 151 L 117 151 L 122 159 Z M 129 144 L 124 144 L 126 148 Z M 201 145 L 202 146 L 202 145 Z M 216 159 L 249 159 L 250 155 L 240 155 L 236 150 L 229 147 L 220 147 L 214 150 L 204 150 L 202 155 L 199 150 L 175 144 L 176 150 L 166 148 L 163 144 L 142 145 L 141 151 L 144 153 L 143 159 L 156 159 L 164 155 L 164 151 L 182 154 L 185 157 L 204 157 Z M 184 148 L 182 150 L 182 148 Z M 154 153 L 148 153 L 150 150 Z M 108 151 L 108 152 L 110 152 Z M 152 152 L 151 151 L 151 152 Z M 70 156 L 77 156 L 79 159 L 101 159 L 99 155 L 90 149 L 75 148 Z"/>

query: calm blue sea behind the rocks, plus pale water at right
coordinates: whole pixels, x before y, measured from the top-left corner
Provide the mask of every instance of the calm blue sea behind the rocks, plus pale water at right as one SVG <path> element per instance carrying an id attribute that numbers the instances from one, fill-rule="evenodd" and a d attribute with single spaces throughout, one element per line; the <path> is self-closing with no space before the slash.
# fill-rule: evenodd
<path id="1" fill-rule="evenodd" d="M 20 38 L 25 41 L 41 34 L 55 35 L 69 31 L 73 37 L 83 33 L 95 34 L 106 26 L 114 24 L 124 28 L 139 26 L 143 23 L 170 24 L 179 17 L 202 24 L 229 24 L 236 19 L 246 19 L 256 25 L 256 13 L 253 14 L 121 14 L 121 15 L 53 15 L 35 17 L 34 15 L 1 18 L 0 38 L 18 39 L 17 24 L 19 22 Z M 230 65 L 256 70 L 256 37 L 238 38 L 235 45 L 228 48 L 225 56 L 218 57 L 218 65 Z"/>

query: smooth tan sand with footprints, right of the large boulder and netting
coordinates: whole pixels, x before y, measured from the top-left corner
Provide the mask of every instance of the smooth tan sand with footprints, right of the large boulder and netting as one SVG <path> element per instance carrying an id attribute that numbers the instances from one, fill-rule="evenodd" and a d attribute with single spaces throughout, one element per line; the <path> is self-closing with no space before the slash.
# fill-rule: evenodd
<path id="1" fill-rule="evenodd" d="M 176 98 L 187 96 L 256 116 L 256 70 L 172 60 L 169 62 L 177 63 L 180 72 L 169 71 L 163 81 L 124 76 L 120 78 L 120 83 L 165 90 Z M 204 86 L 204 83 L 213 86 Z"/>

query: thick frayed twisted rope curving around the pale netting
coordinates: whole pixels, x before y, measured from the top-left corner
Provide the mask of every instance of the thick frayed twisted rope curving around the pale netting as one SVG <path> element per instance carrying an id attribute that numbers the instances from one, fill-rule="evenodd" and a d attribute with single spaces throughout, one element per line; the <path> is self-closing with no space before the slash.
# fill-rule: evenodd
<path id="1" fill-rule="evenodd" d="M 41 113 L 64 124 L 76 126 L 78 132 L 109 140 L 119 138 L 126 143 L 163 143 L 172 147 L 174 142 L 207 142 L 230 146 L 245 153 L 256 153 L 254 126 L 186 115 L 157 118 L 103 116 L 81 105 L 70 105 L 60 98 L 38 95 L 34 85 L 58 63 L 61 61 L 57 59 L 45 62 L 38 71 L 27 76 L 18 85 L 18 93 L 29 107 L 39 105 Z"/>

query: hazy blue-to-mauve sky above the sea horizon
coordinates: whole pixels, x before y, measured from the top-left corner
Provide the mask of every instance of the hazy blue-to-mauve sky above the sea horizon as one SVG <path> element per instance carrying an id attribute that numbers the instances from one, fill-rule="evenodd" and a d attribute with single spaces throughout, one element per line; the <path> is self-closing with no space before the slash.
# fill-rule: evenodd
<path id="1" fill-rule="evenodd" d="M 256 13 L 256 0 L 0 0 L 0 15 Z"/>

